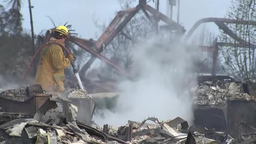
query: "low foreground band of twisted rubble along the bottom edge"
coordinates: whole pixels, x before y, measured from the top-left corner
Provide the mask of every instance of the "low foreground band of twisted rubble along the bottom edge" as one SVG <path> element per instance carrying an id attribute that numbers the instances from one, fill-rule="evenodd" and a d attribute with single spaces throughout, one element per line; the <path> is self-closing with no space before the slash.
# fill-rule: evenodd
<path id="1" fill-rule="evenodd" d="M 63 106 L 62 113 L 54 111 L 57 102 Z M 75 119 L 78 111 L 64 97 L 48 99 L 33 119 L 22 118 L 0 125 L 0 141 L 11 144 L 21 138 L 21 144 L 180 144 L 194 138 L 198 144 L 208 144 L 233 139 L 224 132 L 195 132 L 179 117 L 168 121 L 160 121 L 158 118 L 148 118 L 142 122 L 128 121 L 126 126 L 108 126 L 108 130 L 103 132 L 104 128 L 100 126 L 93 128 L 77 122 Z M 132 128 L 129 130 L 130 126 Z M 131 139 L 127 140 L 128 137 Z"/>

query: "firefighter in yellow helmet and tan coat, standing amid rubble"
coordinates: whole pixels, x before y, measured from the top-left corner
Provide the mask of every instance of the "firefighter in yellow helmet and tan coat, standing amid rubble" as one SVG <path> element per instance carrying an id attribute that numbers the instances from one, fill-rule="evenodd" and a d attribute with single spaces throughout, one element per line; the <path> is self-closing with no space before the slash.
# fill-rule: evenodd
<path id="1" fill-rule="evenodd" d="M 69 38 L 68 28 L 66 26 L 58 26 L 53 30 L 53 36 L 50 41 L 64 45 L 66 38 Z M 34 83 L 41 84 L 45 92 L 58 96 L 65 90 L 64 68 L 69 67 L 72 60 L 74 60 L 74 56 L 70 53 L 65 58 L 63 50 L 58 44 L 46 46 L 40 52 Z"/>

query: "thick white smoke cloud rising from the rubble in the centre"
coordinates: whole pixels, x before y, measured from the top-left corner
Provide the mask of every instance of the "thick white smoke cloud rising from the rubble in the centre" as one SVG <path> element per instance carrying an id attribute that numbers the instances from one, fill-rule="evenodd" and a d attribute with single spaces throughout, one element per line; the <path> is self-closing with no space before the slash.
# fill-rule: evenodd
<path id="1" fill-rule="evenodd" d="M 192 73 L 198 57 L 179 44 L 164 38 L 152 38 L 134 49 L 131 72 L 134 81 L 124 81 L 124 93 L 118 99 L 115 112 L 104 110 L 104 118 L 95 115 L 97 124 L 120 126 L 128 120 L 142 121 L 148 116 L 160 120 L 181 117 L 192 122 L 192 98 L 189 88 L 196 84 Z"/>

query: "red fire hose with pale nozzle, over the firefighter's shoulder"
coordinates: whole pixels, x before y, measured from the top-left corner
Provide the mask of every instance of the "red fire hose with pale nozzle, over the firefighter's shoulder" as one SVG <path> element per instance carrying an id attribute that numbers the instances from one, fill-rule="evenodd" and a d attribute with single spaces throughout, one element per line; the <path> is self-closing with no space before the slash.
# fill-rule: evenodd
<path id="1" fill-rule="evenodd" d="M 34 56 L 32 57 L 32 60 L 30 61 L 30 64 L 28 65 L 28 68 L 26 69 L 26 72 L 25 72 L 25 75 L 24 75 L 24 78 L 23 78 L 24 80 L 25 80 L 26 76 L 28 75 L 28 71 L 30 70 L 32 64 L 34 64 L 36 56 L 38 55 L 38 53 L 42 50 L 42 48 L 48 46 L 49 44 L 58 44 L 62 48 L 62 50 L 64 50 L 67 54 L 71 53 L 65 46 L 61 45 L 58 42 L 47 42 L 46 44 L 44 44 L 40 48 L 38 48 L 38 50 L 35 52 Z M 70 61 L 70 64 L 71 64 L 71 66 L 73 68 L 73 71 L 74 71 L 74 74 L 75 74 L 75 76 L 78 80 L 78 84 L 79 84 L 80 89 L 84 90 L 84 87 L 82 86 L 82 82 L 81 82 L 81 79 L 79 77 L 78 69 L 76 68 L 74 60 Z"/>

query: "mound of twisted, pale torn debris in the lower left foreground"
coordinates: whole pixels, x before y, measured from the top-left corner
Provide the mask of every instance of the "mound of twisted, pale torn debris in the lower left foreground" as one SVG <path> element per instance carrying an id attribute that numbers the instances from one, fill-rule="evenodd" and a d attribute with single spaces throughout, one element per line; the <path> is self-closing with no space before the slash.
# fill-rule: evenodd
<path id="1" fill-rule="evenodd" d="M 60 102 L 63 112 L 54 109 Z M 118 138 L 106 136 L 103 132 L 76 122 L 78 108 L 64 97 L 48 99 L 34 115 L 34 118 L 22 118 L 0 126 L 0 141 L 11 144 L 13 138 L 26 139 L 28 144 L 104 144 L 126 143 Z M 28 137 L 24 137 L 26 132 Z M 8 134 L 8 136 L 6 136 Z M 17 139 L 16 139 L 17 140 Z"/>

